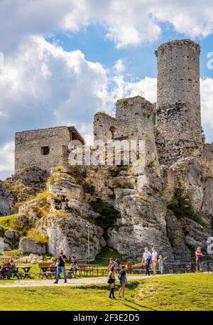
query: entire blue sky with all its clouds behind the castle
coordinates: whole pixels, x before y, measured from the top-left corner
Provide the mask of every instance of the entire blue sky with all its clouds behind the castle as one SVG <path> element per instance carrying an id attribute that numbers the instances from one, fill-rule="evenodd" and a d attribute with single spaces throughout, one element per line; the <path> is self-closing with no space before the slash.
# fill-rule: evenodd
<path id="1" fill-rule="evenodd" d="M 154 50 L 173 39 L 200 43 L 202 123 L 213 141 L 212 1 L 3 0 L 0 20 L 0 179 L 13 172 L 16 131 L 75 124 L 91 141 L 95 112 L 141 92 L 154 102 Z"/>

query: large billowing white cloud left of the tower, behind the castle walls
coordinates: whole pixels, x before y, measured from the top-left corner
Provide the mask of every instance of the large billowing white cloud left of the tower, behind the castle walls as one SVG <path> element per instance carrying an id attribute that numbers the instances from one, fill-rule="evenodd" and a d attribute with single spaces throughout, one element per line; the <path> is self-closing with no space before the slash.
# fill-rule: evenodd
<path id="1" fill-rule="evenodd" d="M 126 82 L 123 61 L 117 60 L 114 67 L 111 76 L 80 50 L 67 52 L 42 36 L 26 37 L 0 74 L 1 171 L 12 166 L 9 148 L 16 131 L 75 124 L 91 142 L 95 112 L 110 114 L 116 100 L 141 95 L 141 90 L 155 101 L 155 80 Z"/>

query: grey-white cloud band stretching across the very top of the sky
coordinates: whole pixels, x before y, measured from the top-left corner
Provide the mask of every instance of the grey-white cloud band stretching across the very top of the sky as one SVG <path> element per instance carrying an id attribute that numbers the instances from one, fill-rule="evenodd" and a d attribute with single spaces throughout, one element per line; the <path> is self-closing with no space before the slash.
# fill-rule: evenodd
<path id="1" fill-rule="evenodd" d="M 9 19 L 8 17 L 13 17 Z M 160 22 L 190 37 L 213 31 L 212 0 L 7 0 L 0 2 L 1 50 L 25 36 L 80 31 L 91 24 L 106 28 L 118 48 L 156 41 Z"/>

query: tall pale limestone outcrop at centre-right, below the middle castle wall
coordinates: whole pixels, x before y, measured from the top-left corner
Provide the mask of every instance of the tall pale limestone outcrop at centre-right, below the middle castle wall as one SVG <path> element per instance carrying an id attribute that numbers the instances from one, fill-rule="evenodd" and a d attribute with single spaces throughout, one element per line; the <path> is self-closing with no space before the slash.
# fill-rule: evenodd
<path id="1" fill-rule="evenodd" d="M 139 172 L 137 168 L 137 176 L 119 176 L 119 181 L 121 179 L 125 187 L 131 188 L 114 190 L 115 206 L 121 218 L 116 220 L 114 228 L 108 230 L 109 245 L 132 261 L 140 262 L 143 248 L 152 245 L 173 259 L 166 232 L 166 202 L 160 195 L 163 183 L 159 176 L 152 169 L 145 168 Z"/>

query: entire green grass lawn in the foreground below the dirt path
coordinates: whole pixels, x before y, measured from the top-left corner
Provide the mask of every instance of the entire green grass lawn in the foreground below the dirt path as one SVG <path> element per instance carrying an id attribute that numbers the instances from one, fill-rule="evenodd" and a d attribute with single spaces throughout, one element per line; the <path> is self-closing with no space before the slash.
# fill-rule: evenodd
<path id="1" fill-rule="evenodd" d="M 131 281 L 115 301 L 107 284 L 0 288 L 0 310 L 212 310 L 212 288 L 213 274 L 196 273 Z"/>

